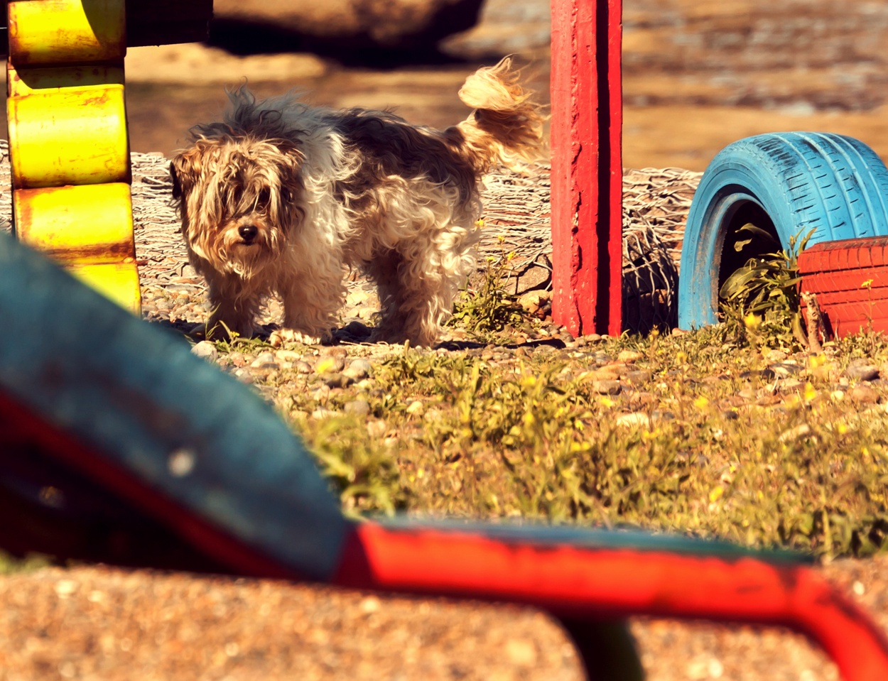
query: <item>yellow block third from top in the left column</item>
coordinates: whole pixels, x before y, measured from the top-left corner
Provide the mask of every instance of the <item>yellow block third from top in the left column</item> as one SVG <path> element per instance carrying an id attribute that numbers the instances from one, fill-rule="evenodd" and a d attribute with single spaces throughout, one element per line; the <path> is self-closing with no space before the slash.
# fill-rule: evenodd
<path id="1" fill-rule="evenodd" d="M 15 234 L 70 264 L 135 262 L 130 186 L 20 189 L 12 195 Z"/>

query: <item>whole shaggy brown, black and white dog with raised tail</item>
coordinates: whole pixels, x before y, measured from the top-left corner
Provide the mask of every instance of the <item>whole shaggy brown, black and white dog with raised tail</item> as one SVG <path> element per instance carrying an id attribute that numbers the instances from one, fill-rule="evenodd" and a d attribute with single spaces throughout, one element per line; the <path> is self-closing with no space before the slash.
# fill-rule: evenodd
<path id="1" fill-rule="evenodd" d="M 474 110 L 445 130 L 389 112 L 309 107 L 292 95 L 229 94 L 222 123 L 197 125 L 170 165 L 192 265 L 210 288 L 208 335 L 254 332 L 277 292 L 281 338 L 327 339 L 345 275 L 376 282 L 374 338 L 431 345 L 474 265 L 480 178 L 540 154 L 543 117 L 511 59 L 470 75 Z"/>

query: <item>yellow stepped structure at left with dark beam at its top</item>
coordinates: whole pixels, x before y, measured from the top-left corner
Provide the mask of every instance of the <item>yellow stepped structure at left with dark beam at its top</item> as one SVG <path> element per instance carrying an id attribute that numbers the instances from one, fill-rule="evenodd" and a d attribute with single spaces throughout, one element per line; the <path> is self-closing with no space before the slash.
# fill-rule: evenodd
<path id="1" fill-rule="evenodd" d="M 212 0 L 11 0 L 6 111 L 13 228 L 139 313 L 123 99 L 127 46 L 206 37 Z"/>

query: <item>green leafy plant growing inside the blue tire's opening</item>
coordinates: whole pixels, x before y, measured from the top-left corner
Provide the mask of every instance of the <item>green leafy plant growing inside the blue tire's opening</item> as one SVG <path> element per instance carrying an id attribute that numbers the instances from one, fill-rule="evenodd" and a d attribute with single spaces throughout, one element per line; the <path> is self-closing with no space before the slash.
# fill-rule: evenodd
<path id="1" fill-rule="evenodd" d="M 734 249 L 748 246 L 756 239 L 774 242 L 773 235 L 761 227 L 747 223 L 737 230 L 748 239 L 734 243 Z M 798 254 L 811 239 L 813 230 L 804 237 L 790 237 L 789 249 L 778 249 L 760 257 L 750 257 L 746 265 L 731 273 L 719 290 L 725 322 L 738 337 L 750 344 L 779 344 L 790 349 L 808 344 L 802 319 L 798 273 Z M 779 245 L 779 244 L 776 244 Z"/>

